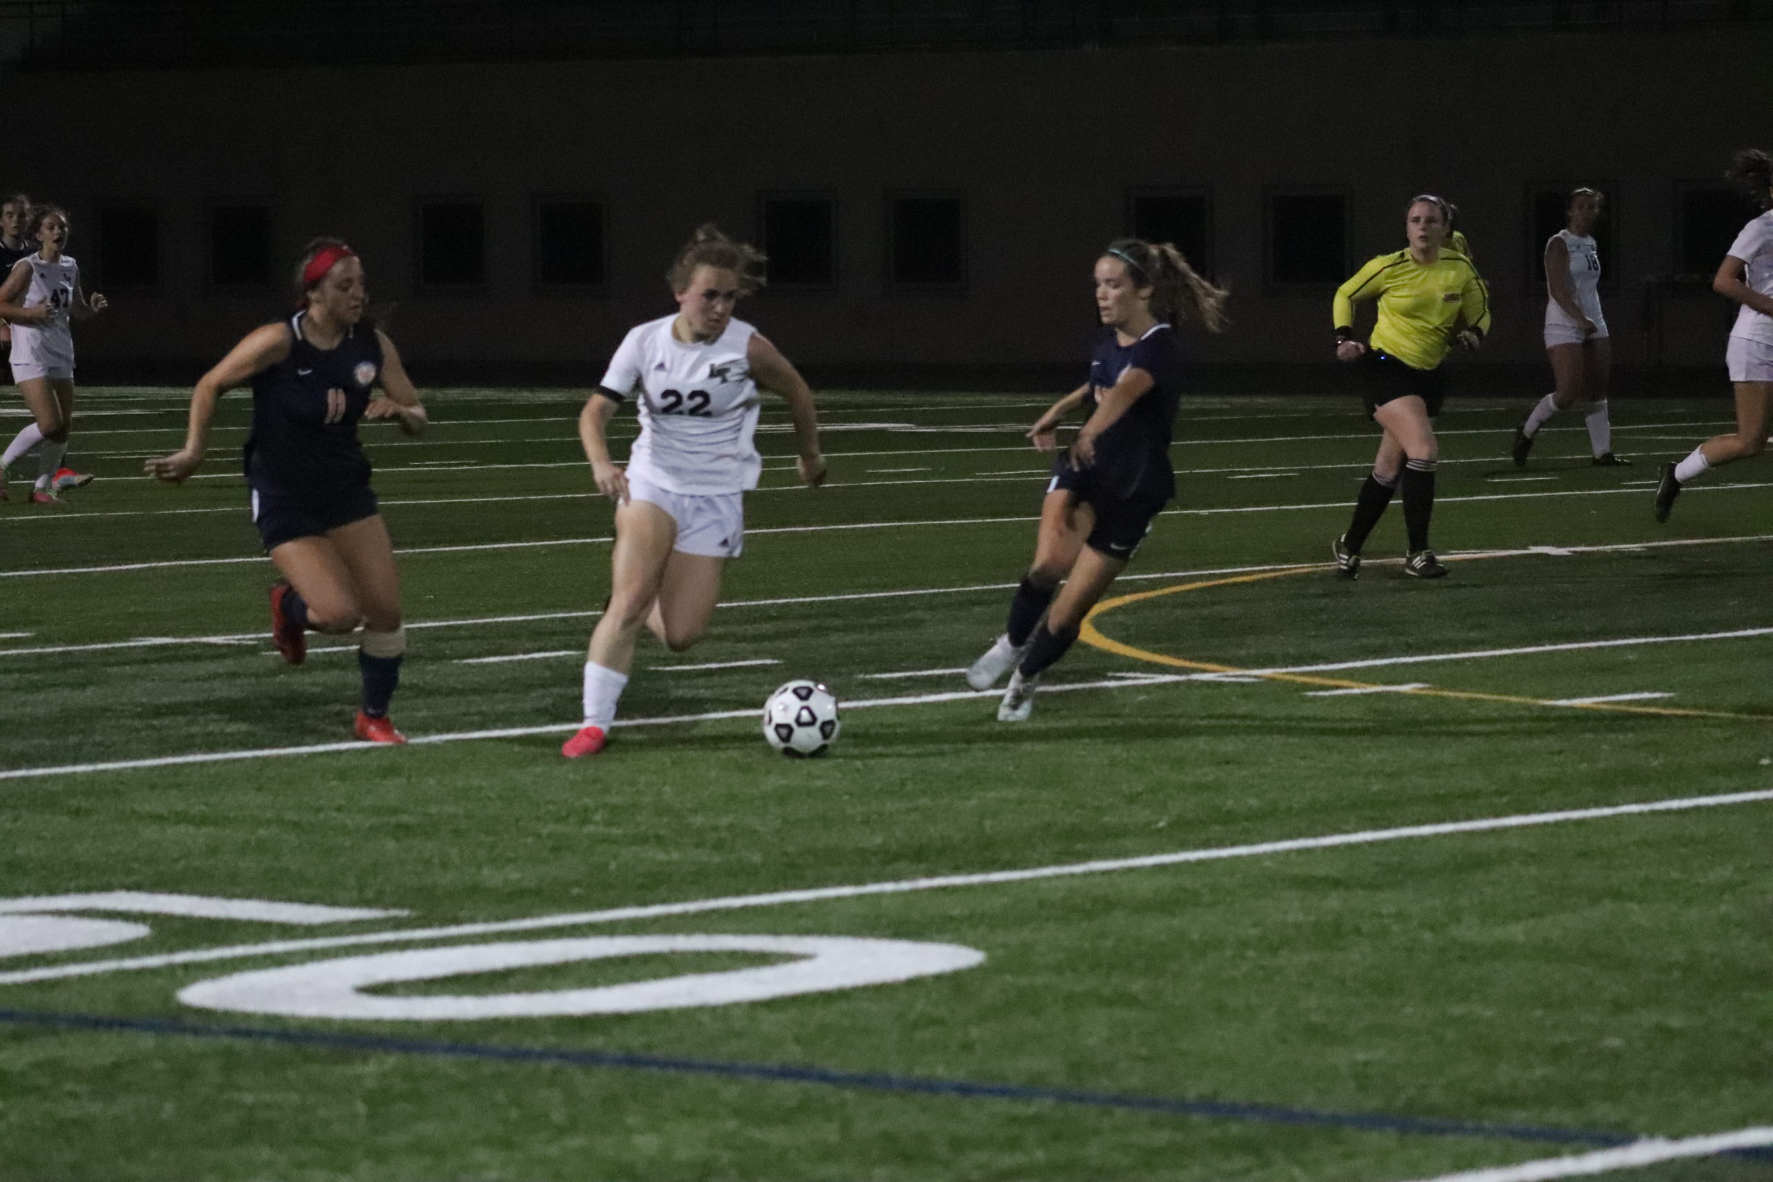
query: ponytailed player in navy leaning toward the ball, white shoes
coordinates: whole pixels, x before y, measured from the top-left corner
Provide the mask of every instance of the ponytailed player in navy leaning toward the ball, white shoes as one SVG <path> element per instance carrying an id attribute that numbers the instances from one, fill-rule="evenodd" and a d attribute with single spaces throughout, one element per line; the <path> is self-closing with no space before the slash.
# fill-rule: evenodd
<path id="1" fill-rule="evenodd" d="M 1168 243 L 1122 237 L 1096 261 L 1103 333 L 1090 377 L 1041 415 L 1028 438 L 1051 452 L 1066 415 L 1083 404 L 1090 413 L 1053 459 L 1034 564 L 1011 601 L 1009 624 L 966 670 L 966 684 L 986 689 L 1016 668 L 998 721 L 1028 718 L 1041 673 L 1073 645 L 1083 617 L 1175 496 L 1170 432 L 1184 374 L 1175 324 L 1191 319 L 1223 331 L 1225 294 Z"/>

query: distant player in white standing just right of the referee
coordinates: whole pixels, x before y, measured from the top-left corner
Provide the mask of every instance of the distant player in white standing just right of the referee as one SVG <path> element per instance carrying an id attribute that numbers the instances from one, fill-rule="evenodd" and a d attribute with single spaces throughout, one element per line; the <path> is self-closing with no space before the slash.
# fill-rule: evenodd
<path id="1" fill-rule="evenodd" d="M 1629 466 L 1613 455 L 1613 425 L 1606 415 L 1606 379 L 1613 369 L 1613 342 L 1601 314 L 1601 255 L 1594 223 L 1606 198 L 1590 188 L 1573 190 L 1564 202 L 1564 229 L 1546 241 L 1546 356 L 1557 390 L 1539 399 L 1527 422 L 1514 429 L 1514 466 L 1527 466 L 1539 429 L 1578 402 L 1589 424 L 1589 452 L 1601 468 Z"/>

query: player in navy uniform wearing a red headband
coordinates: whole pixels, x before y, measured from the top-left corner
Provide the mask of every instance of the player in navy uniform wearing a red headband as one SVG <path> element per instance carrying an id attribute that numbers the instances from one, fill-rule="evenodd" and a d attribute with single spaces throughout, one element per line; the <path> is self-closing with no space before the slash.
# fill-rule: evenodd
<path id="1" fill-rule="evenodd" d="M 191 395 L 184 448 L 145 468 L 170 484 L 197 471 L 216 399 L 252 385 L 245 454 L 252 521 L 284 574 L 271 588 L 271 640 L 285 661 L 301 665 L 309 629 L 362 627 L 356 737 L 406 743 L 388 719 L 406 652 L 401 576 L 356 422 L 392 418 L 418 434 L 426 409 L 394 342 L 363 319 L 369 292 L 356 253 L 339 239 L 316 239 L 296 276 L 301 308 L 248 333 L 204 374 Z"/>

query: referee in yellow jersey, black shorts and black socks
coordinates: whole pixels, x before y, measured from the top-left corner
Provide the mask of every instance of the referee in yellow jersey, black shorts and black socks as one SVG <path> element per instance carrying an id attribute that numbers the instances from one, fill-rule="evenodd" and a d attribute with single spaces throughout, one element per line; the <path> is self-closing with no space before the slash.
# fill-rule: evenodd
<path id="1" fill-rule="evenodd" d="M 1429 420 L 1440 415 L 1447 385 L 1440 363 L 1454 342 L 1477 349 L 1489 331 L 1489 291 L 1470 259 L 1445 248 L 1447 214 L 1440 197 L 1413 197 L 1404 214 L 1410 245 L 1369 261 L 1335 292 L 1335 356 L 1365 365 L 1367 416 L 1385 432 L 1355 502 L 1355 519 L 1330 546 L 1344 578 L 1360 576 L 1360 548 L 1399 484 L 1410 533 L 1404 574 L 1418 579 L 1447 574 L 1429 549 L 1440 463 Z M 1367 299 L 1379 305 L 1371 347 L 1355 338 L 1355 305 Z"/>

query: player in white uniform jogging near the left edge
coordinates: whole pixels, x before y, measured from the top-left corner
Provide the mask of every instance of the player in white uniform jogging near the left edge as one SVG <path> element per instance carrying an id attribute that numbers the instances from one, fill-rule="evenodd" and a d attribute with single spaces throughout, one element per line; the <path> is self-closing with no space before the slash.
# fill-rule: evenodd
<path id="1" fill-rule="evenodd" d="M 12 381 L 25 393 L 34 422 L 18 432 L 0 454 L 0 496 L 5 496 L 5 468 L 28 448 L 37 448 L 37 486 L 30 500 L 53 503 L 57 491 L 87 484 L 62 468 L 67 454 L 67 429 L 74 420 L 74 337 L 69 319 L 85 321 L 105 310 L 105 296 L 87 298 L 80 287 L 80 264 L 64 255 L 67 214 L 43 206 L 30 214 L 37 236 L 37 253 L 12 264 L 0 285 L 0 317 L 12 324 Z M 62 480 L 62 477 L 69 480 Z"/>

